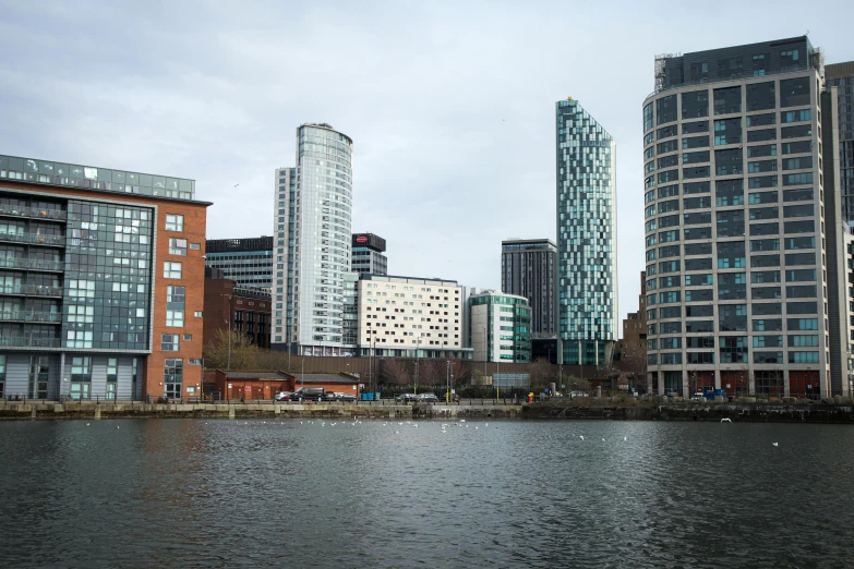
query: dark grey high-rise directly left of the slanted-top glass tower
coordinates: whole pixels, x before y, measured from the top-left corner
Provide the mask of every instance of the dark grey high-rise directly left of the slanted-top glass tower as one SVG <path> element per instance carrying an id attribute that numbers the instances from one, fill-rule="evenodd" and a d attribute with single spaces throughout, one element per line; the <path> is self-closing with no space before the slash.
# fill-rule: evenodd
<path id="1" fill-rule="evenodd" d="M 550 239 L 501 242 L 501 290 L 528 299 L 531 337 L 557 334 L 557 245 Z"/>

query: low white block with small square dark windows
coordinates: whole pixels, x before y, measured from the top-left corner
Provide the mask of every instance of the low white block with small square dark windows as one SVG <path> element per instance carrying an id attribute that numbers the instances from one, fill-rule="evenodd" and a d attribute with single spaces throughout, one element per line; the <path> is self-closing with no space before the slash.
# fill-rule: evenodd
<path id="1" fill-rule="evenodd" d="M 471 359 L 464 348 L 461 288 L 456 281 L 361 275 L 359 353 Z"/>

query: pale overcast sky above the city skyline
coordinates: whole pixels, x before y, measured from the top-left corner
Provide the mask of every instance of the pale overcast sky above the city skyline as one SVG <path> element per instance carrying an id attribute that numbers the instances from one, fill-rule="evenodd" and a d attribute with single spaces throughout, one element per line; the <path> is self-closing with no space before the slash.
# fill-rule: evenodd
<path id="1" fill-rule="evenodd" d="M 327 122 L 353 138 L 353 231 L 386 239 L 389 274 L 497 289 L 503 239 L 555 238 L 573 96 L 617 143 L 623 317 L 654 55 L 808 31 L 854 60 L 851 1 L 683 4 L 0 0 L 0 154 L 192 178 L 208 238 L 269 235 L 274 170 Z"/>

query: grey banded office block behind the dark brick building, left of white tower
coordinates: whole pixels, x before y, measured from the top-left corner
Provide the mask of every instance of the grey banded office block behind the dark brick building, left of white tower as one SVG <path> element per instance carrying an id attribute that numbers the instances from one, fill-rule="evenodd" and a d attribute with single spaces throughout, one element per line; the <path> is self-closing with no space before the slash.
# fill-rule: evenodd
<path id="1" fill-rule="evenodd" d="M 238 287 L 269 292 L 273 287 L 273 238 L 208 239 L 205 265 L 222 270 Z"/>

